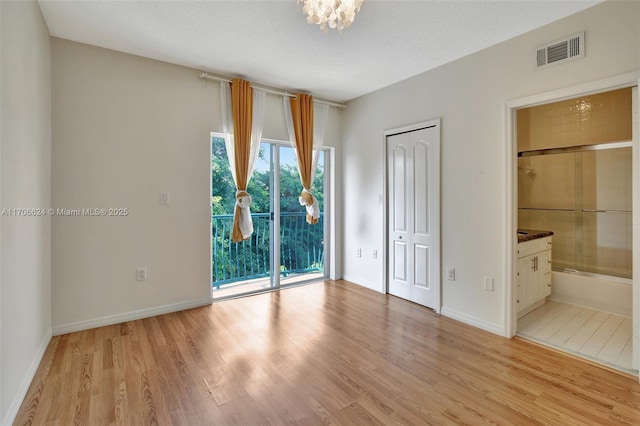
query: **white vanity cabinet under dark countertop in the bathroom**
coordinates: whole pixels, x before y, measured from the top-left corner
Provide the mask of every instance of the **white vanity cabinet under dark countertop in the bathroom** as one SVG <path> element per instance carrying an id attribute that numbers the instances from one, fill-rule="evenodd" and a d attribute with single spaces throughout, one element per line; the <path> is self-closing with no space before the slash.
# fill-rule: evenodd
<path id="1" fill-rule="evenodd" d="M 516 300 L 518 318 L 551 295 L 551 237 L 518 243 Z"/>

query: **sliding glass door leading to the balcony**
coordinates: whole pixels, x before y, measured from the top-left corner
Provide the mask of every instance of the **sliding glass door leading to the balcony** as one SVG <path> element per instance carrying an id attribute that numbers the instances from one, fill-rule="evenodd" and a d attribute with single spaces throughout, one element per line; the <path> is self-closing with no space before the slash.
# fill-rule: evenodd
<path id="1" fill-rule="evenodd" d="M 248 192 L 253 199 L 254 232 L 233 243 L 235 187 L 224 140 L 211 140 L 211 258 L 214 298 L 264 291 L 325 277 L 327 156 L 320 153 L 312 192 L 319 201 L 320 220 L 306 222 L 298 202 L 302 189 L 295 151 L 288 144 L 263 141 Z"/>

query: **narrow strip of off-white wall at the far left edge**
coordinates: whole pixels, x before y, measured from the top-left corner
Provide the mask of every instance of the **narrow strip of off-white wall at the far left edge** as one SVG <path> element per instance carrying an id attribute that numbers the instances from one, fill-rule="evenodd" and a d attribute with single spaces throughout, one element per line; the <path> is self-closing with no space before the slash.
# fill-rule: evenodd
<path id="1" fill-rule="evenodd" d="M 36 2 L 0 2 L 0 210 L 50 205 L 51 46 Z M 51 219 L 0 217 L 0 424 L 51 338 Z"/>

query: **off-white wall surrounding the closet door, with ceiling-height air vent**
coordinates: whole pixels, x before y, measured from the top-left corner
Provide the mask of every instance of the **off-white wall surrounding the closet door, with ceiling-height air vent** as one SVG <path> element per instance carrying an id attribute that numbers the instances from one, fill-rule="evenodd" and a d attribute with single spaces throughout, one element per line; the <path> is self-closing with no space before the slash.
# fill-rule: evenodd
<path id="1" fill-rule="evenodd" d="M 586 57 L 536 71 L 536 46 L 586 31 Z M 640 69 L 640 3 L 605 2 L 349 103 L 343 116 L 344 277 L 384 291 L 385 129 L 442 118 L 443 314 L 504 331 L 507 206 L 505 103 Z M 429 52 L 424 52 L 428 55 Z M 401 66 L 401 64 L 398 64 Z M 373 167 L 375 165 L 376 167 Z M 483 290 L 483 277 L 495 291 Z"/>

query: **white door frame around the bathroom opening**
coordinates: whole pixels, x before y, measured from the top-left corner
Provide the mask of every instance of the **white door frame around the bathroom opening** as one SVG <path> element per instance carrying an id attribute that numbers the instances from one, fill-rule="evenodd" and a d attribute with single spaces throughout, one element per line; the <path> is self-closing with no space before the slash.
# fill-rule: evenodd
<path id="1" fill-rule="evenodd" d="M 516 282 L 516 248 L 517 236 L 516 230 L 518 226 L 518 164 L 517 164 L 517 137 L 516 137 L 516 110 L 520 108 L 541 105 L 551 102 L 571 99 L 578 96 L 590 95 L 594 93 L 606 92 L 610 90 L 623 89 L 627 87 L 640 85 L 640 71 L 622 74 L 603 80 L 584 83 L 576 86 L 570 86 L 558 90 L 553 90 L 533 96 L 514 99 L 505 103 L 505 253 L 506 268 L 504 282 L 510 283 L 505 286 L 504 294 L 504 336 L 511 338 L 515 336 L 517 331 L 517 309 L 515 302 Z M 633 338 L 634 350 L 633 354 L 636 361 L 640 357 L 640 349 L 638 347 L 638 334 L 640 333 L 640 123 L 638 120 L 638 90 L 633 95 L 633 102 L 636 108 L 634 111 L 633 121 Z"/>

